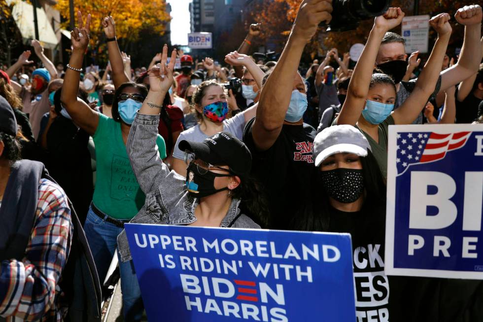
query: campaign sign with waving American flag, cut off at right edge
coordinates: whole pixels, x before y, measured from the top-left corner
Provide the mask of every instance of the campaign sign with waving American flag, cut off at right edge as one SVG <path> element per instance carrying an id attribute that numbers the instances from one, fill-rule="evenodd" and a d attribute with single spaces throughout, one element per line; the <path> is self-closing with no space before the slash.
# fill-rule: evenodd
<path id="1" fill-rule="evenodd" d="M 483 279 L 483 125 L 389 127 L 385 272 Z"/>

